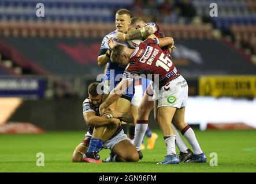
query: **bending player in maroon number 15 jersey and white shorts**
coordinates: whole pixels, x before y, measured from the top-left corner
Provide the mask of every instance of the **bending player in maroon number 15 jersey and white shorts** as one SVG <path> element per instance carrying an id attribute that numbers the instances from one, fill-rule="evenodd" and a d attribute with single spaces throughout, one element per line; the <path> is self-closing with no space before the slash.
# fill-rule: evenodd
<path id="1" fill-rule="evenodd" d="M 188 95 L 187 82 L 160 48 L 170 45 L 172 42 L 171 37 L 166 37 L 161 39 L 159 45 L 159 41 L 155 37 L 155 39 L 143 41 L 136 49 L 129 49 L 124 45 L 114 47 L 111 56 L 112 61 L 124 65 L 128 64 L 128 66 L 120 85 L 110 93 L 106 101 L 99 107 L 101 112 L 102 109 L 116 101 L 135 76 L 144 74 L 143 77 L 148 78 L 148 74 L 153 74 L 154 77 L 151 80 L 154 82 L 154 114 L 167 145 L 167 156 L 164 161 L 158 164 L 180 162 L 175 150 L 175 132 L 169 122 L 174 119 L 177 123 L 184 123 L 184 107 Z M 155 79 L 155 76 L 158 76 L 158 79 Z M 205 154 L 202 153 L 201 156 L 206 162 Z"/>

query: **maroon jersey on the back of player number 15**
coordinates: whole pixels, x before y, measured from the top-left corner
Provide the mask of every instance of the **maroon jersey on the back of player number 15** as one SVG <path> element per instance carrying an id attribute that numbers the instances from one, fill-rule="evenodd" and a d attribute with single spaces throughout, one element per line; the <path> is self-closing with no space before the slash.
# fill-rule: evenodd
<path id="1" fill-rule="evenodd" d="M 136 47 L 124 74 L 152 74 L 153 82 L 155 82 L 154 75 L 158 75 L 159 87 L 166 85 L 173 78 L 179 76 L 180 73 L 172 63 L 172 60 L 162 51 L 158 44 L 158 39 L 147 39 Z"/>

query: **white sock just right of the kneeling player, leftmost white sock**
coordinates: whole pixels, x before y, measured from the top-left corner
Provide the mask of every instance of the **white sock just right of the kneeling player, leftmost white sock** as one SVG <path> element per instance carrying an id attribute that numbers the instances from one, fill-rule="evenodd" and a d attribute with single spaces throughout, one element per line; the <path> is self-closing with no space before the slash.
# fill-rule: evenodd
<path id="1" fill-rule="evenodd" d="M 138 122 L 139 120 L 137 120 Z M 133 145 L 136 147 L 136 150 L 140 150 L 140 145 L 142 144 L 144 135 L 147 131 L 147 123 L 136 123 L 135 125 L 135 135 L 133 140 Z"/>

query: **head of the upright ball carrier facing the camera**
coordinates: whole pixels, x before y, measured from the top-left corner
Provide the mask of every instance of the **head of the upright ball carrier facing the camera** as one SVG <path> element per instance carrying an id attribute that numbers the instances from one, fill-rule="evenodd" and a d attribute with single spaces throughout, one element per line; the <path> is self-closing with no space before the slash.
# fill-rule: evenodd
<path id="1" fill-rule="evenodd" d="M 116 29 L 118 32 L 126 33 L 131 24 L 131 11 L 120 9 L 116 13 Z"/>

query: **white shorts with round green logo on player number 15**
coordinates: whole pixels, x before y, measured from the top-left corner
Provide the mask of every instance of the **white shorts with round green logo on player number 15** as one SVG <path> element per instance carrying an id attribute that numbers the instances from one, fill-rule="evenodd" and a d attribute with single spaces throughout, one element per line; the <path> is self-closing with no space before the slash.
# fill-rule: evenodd
<path id="1" fill-rule="evenodd" d="M 157 108 L 162 106 L 183 108 L 187 105 L 188 99 L 187 81 L 180 75 L 159 90 L 156 90 L 156 87 L 154 87 L 153 99 L 157 100 L 157 98 Z"/>

